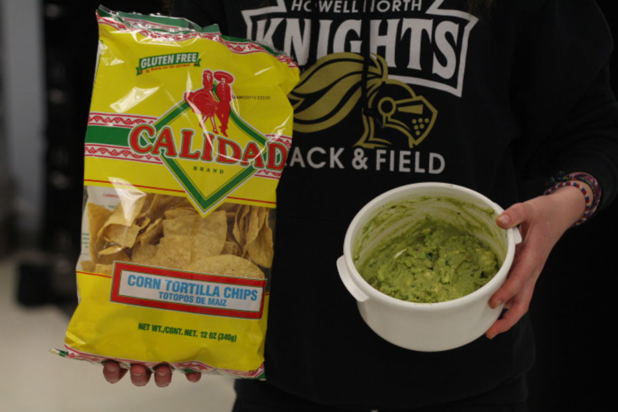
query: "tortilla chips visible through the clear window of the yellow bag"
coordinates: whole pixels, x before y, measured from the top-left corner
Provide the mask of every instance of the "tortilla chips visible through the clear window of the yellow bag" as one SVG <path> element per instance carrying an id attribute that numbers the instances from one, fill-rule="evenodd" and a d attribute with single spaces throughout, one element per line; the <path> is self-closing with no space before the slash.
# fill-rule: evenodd
<path id="1" fill-rule="evenodd" d="M 264 273 L 255 268 L 272 265 L 273 232 L 266 207 L 223 203 L 203 218 L 181 196 L 146 194 L 129 198 L 133 203 L 118 203 L 113 211 L 88 203 L 93 236 L 91 261 L 84 264 L 89 271 L 108 271 L 107 266 L 115 261 L 130 261 L 190 271 L 214 267 L 225 274 L 260 277 Z M 133 221 L 129 222 L 130 218 Z M 204 261 L 221 255 L 240 260 L 227 257 Z M 204 262 L 207 266 L 200 268 Z M 242 270 L 247 273 L 243 275 Z"/>

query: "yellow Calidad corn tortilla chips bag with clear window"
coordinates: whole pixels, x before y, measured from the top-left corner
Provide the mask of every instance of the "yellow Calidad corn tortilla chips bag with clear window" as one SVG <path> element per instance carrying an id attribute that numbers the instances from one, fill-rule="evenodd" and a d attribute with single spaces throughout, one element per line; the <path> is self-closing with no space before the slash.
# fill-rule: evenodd
<path id="1" fill-rule="evenodd" d="M 184 19 L 98 10 L 79 304 L 54 352 L 264 378 L 293 60 Z"/>

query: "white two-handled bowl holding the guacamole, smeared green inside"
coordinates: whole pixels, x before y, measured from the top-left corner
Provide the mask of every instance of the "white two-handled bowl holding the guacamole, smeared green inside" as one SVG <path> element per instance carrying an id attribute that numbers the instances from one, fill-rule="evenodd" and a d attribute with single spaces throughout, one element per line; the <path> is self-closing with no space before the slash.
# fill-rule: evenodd
<path id="1" fill-rule="evenodd" d="M 454 198 L 456 202 L 442 201 L 444 197 Z M 388 209 L 393 203 L 407 201 L 414 206 L 403 218 L 389 218 Z M 496 216 L 502 211 L 482 194 L 447 183 L 405 185 L 367 203 L 347 229 L 343 256 L 337 260 L 337 268 L 369 328 L 395 345 L 424 352 L 450 350 L 483 335 L 502 310 L 502 307 L 490 308 L 488 301 L 505 281 L 513 262 L 515 244 L 521 241 L 516 229 L 504 230 L 496 225 Z M 381 218 L 367 225 L 378 214 L 382 214 Z M 468 227 L 477 228 L 471 229 L 474 235 L 489 244 L 503 262 L 490 282 L 459 299 L 426 304 L 385 295 L 361 277 L 354 266 L 355 256 L 362 261 L 363 253 L 380 239 L 402 231 L 413 220 L 427 214 L 459 224 L 468 222 Z"/>

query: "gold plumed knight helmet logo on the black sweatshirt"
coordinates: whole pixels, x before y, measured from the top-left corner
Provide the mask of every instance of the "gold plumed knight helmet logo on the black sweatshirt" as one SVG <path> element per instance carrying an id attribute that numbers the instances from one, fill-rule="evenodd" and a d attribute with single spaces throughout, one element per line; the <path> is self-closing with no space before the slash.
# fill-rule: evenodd
<path id="1" fill-rule="evenodd" d="M 289 95 L 295 130 L 312 133 L 330 128 L 357 104 L 364 104 L 364 99 L 373 115 L 363 114 L 365 130 L 354 146 L 391 146 L 392 141 L 376 135 L 378 122 L 383 128 L 398 130 L 410 148 L 418 146 L 431 132 L 437 110 L 408 84 L 389 79 L 387 63 L 381 56 L 371 57 L 363 79 L 364 60 L 360 54 L 329 54 L 302 73 Z"/>

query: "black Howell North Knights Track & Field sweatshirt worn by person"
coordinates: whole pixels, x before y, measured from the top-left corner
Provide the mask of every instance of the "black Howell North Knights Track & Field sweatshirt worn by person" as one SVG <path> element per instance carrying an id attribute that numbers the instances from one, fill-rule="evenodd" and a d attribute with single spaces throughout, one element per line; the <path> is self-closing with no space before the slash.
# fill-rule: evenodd
<path id="1" fill-rule="evenodd" d="M 347 225 L 393 187 L 442 181 L 502 207 L 559 171 L 617 191 L 613 47 L 593 1 L 176 0 L 174 15 L 268 43 L 304 74 L 277 190 L 266 381 L 322 404 L 411 408 L 525 398 L 527 317 L 491 341 L 404 350 L 371 332 L 336 271 Z M 551 276 L 551 274 L 545 274 Z M 491 400 L 491 399 L 490 399 Z"/>

